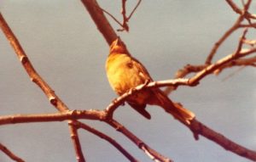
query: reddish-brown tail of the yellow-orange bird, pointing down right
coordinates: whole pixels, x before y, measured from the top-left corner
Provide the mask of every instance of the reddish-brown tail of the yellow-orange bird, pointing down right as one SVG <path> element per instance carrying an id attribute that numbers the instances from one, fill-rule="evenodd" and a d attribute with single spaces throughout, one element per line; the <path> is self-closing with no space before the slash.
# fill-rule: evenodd
<path id="1" fill-rule="evenodd" d="M 167 113 L 172 114 L 177 120 L 182 121 L 184 124 L 190 124 L 190 121 L 195 118 L 195 114 L 189 109 L 184 109 L 179 103 L 172 103 L 172 100 L 166 96 L 166 94 L 160 89 L 154 90 L 155 97 L 157 98 L 157 104 Z"/>

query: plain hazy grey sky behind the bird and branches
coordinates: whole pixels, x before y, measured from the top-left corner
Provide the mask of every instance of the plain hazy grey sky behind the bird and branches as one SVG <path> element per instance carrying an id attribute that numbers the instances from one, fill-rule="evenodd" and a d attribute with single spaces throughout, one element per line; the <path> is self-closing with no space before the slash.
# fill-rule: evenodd
<path id="1" fill-rule="evenodd" d="M 240 2 L 240 1 L 236 1 Z M 98 3 L 119 20 L 119 1 Z M 127 12 L 135 5 L 127 1 Z M 255 11 L 256 3 L 252 4 Z M 0 11 L 18 37 L 34 68 L 69 109 L 105 109 L 116 97 L 105 74 L 105 42 L 80 1 L 0 0 Z M 172 79 L 186 64 L 202 64 L 214 42 L 235 22 L 222 0 L 143 1 L 129 21 L 129 32 L 118 32 L 131 54 L 155 81 Z M 108 17 L 113 28 L 119 26 Z M 219 48 L 214 61 L 236 50 L 241 31 Z M 248 38 L 255 39 L 249 32 Z M 30 81 L 3 33 L 0 32 L 0 115 L 47 114 L 56 110 Z M 197 87 L 179 87 L 170 97 L 195 112 L 196 118 L 225 137 L 256 150 L 256 72 L 247 67 L 209 75 Z M 236 72 L 235 75 L 229 77 Z M 225 79 L 228 78 L 228 79 Z M 146 120 L 125 105 L 114 118 L 150 147 L 174 161 L 247 162 L 192 133 L 154 106 Z M 117 140 L 140 161 L 151 161 L 127 138 L 94 120 L 83 120 Z M 87 161 L 128 161 L 108 142 L 79 130 Z M 0 142 L 26 161 L 75 161 L 67 122 L 16 124 L 0 127 Z M 108 160 L 107 160 L 108 159 Z M 0 153 L 0 161 L 11 161 Z"/>

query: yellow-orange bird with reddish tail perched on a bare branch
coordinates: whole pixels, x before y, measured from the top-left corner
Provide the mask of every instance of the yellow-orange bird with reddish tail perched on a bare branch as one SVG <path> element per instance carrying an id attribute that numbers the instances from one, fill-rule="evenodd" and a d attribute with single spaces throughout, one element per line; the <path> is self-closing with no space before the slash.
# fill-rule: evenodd
<path id="1" fill-rule="evenodd" d="M 118 36 L 110 45 L 108 59 L 105 64 L 108 82 L 119 96 L 132 88 L 153 81 L 148 70 L 137 59 L 133 58 Z M 131 108 L 148 120 L 151 115 L 146 110 L 147 104 L 158 105 L 177 120 L 189 125 L 195 114 L 184 109 L 180 104 L 173 103 L 158 87 L 144 88 L 126 99 Z"/>

